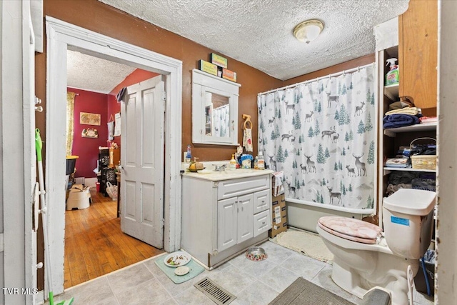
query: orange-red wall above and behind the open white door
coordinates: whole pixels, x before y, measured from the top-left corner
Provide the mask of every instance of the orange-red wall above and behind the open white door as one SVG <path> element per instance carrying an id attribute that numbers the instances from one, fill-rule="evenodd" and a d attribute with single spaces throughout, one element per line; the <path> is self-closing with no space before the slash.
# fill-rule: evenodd
<path id="1" fill-rule="evenodd" d="M 151 79 L 154 76 L 158 75 L 159 74 L 151 71 L 136 69 L 129 76 L 127 76 L 126 79 L 124 79 L 124 81 L 121 82 L 121 84 L 117 85 L 113 90 L 111 90 L 111 92 L 108 95 L 108 121 L 111 121 L 111 119 L 114 120 L 114 114 L 121 112 L 121 104 L 118 103 L 118 101 L 116 100 L 116 95 L 119 93 L 119 91 L 121 91 L 122 88 L 133 84 L 137 84 L 140 81 L 146 81 L 146 79 Z M 113 142 L 116 142 L 120 147 L 121 136 L 115 136 Z"/>

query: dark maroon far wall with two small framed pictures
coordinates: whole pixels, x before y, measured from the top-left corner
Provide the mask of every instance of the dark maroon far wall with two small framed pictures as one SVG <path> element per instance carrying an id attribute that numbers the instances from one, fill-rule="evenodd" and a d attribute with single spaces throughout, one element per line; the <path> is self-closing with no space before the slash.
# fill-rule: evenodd
<path id="1" fill-rule="evenodd" d="M 108 121 L 106 117 L 108 95 L 74 88 L 67 88 L 67 90 L 79 94 L 74 99 L 74 140 L 72 153 L 79 156 L 79 159 L 76 160 L 75 177 L 94 178 L 96 174 L 93 170 L 97 166 L 99 146 L 108 145 L 106 142 L 108 139 L 108 127 L 106 125 Z M 80 112 L 100 114 L 100 126 L 79 124 Z M 81 132 L 85 128 L 97 129 L 99 137 L 97 139 L 83 138 Z"/>

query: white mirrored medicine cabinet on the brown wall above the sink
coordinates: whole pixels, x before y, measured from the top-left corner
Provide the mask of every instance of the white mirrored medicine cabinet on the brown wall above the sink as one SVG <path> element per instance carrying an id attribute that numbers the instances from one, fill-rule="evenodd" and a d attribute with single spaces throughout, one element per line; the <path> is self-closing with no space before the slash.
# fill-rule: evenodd
<path id="1" fill-rule="evenodd" d="M 238 143 L 238 89 L 241 84 L 192 71 L 192 142 Z"/>

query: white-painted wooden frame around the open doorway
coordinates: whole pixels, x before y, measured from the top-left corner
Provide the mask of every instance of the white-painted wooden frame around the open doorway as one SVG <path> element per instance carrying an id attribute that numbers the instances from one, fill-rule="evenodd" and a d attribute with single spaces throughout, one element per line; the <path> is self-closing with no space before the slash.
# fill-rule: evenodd
<path id="1" fill-rule="evenodd" d="M 164 249 L 176 251 L 181 239 L 181 96 L 182 61 L 127 44 L 46 16 L 46 202 L 52 254 L 52 289 L 64 291 L 66 51 L 116 61 L 166 77 Z"/>

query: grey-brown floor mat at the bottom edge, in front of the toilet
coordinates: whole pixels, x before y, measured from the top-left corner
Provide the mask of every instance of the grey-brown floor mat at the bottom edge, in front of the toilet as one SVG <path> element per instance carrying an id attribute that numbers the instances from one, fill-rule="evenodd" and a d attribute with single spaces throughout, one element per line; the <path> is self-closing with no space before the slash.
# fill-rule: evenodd
<path id="1" fill-rule="evenodd" d="M 269 305 L 353 305 L 341 296 L 299 277 Z"/>

